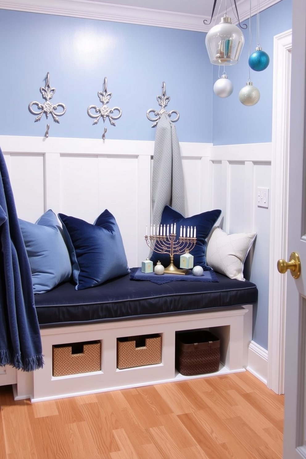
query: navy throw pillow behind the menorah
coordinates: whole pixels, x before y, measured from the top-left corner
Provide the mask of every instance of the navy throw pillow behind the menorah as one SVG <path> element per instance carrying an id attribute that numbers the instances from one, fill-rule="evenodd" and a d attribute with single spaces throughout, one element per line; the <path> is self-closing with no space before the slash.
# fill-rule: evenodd
<path id="1" fill-rule="evenodd" d="M 191 250 L 191 255 L 194 257 L 194 266 L 201 266 L 205 271 L 211 270 L 209 266 L 206 265 L 206 238 L 211 232 L 214 224 L 221 215 L 220 209 L 210 210 L 208 212 L 199 213 L 198 215 L 193 215 L 192 217 L 183 217 L 183 215 L 176 210 L 172 209 L 170 206 L 165 206 L 162 215 L 161 215 L 161 225 L 164 226 L 169 224 L 176 224 L 176 234 L 178 240 L 180 234 L 180 227 L 186 227 L 186 230 L 189 226 L 194 228 L 196 227 L 196 244 L 195 248 Z M 170 264 L 170 255 L 153 252 L 151 255 L 151 261 L 153 264 L 156 264 L 157 261 L 160 261 L 161 264 L 166 268 Z M 174 255 L 173 263 L 177 268 L 180 265 L 180 255 Z"/>

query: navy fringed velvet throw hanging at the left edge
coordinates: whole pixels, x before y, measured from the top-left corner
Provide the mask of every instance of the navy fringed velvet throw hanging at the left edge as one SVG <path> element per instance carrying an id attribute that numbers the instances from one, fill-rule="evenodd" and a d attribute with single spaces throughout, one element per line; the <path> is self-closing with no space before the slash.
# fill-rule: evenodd
<path id="1" fill-rule="evenodd" d="M 26 247 L 6 162 L 0 149 L 0 366 L 24 371 L 44 359 Z"/>

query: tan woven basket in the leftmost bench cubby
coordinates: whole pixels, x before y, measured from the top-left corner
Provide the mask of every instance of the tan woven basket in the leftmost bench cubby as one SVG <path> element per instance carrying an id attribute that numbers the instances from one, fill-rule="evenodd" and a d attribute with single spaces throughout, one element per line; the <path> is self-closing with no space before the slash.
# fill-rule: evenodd
<path id="1" fill-rule="evenodd" d="M 52 346 L 53 376 L 91 373 L 101 369 L 101 341 Z"/>

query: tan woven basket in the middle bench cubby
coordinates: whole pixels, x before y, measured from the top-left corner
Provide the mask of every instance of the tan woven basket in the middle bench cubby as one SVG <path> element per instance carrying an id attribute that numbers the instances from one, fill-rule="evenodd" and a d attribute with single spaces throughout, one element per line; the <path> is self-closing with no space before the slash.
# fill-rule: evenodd
<path id="1" fill-rule="evenodd" d="M 160 335 L 117 338 L 117 368 L 132 368 L 160 363 Z"/>

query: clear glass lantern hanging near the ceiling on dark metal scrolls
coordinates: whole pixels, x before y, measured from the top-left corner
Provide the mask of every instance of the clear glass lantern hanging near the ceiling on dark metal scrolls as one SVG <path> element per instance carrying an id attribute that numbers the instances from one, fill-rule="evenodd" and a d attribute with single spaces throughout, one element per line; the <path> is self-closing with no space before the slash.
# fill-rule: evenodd
<path id="1" fill-rule="evenodd" d="M 215 11 L 216 1 L 211 13 L 211 20 Z M 239 21 L 236 0 L 234 0 L 237 17 Z M 205 24 L 210 24 L 204 20 Z M 240 21 L 239 21 L 240 25 Z M 244 24 L 247 28 L 246 24 Z M 241 27 L 241 26 L 240 26 Z M 245 37 L 241 30 L 232 23 L 227 12 L 221 18 L 221 22 L 213 26 L 206 34 L 205 45 L 211 64 L 215 65 L 234 65 L 239 61 L 239 57 L 245 43 Z"/>

